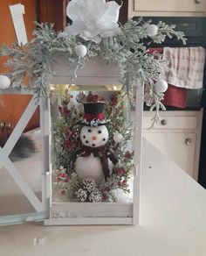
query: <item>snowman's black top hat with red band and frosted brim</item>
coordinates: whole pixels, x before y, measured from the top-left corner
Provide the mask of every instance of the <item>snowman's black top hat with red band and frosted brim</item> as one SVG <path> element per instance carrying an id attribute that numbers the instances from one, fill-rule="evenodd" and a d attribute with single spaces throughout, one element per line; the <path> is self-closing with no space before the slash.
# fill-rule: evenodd
<path id="1" fill-rule="evenodd" d="M 105 120 L 103 117 L 103 109 L 106 102 L 102 96 L 89 93 L 82 103 L 84 104 L 85 114 L 79 124 L 87 126 L 108 124 L 108 120 Z"/>

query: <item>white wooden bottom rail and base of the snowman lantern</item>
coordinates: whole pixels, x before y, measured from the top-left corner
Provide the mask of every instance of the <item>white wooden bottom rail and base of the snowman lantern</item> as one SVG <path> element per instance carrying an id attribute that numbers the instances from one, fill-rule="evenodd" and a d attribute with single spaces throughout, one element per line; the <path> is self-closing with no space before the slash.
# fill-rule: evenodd
<path id="1" fill-rule="evenodd" d="M 52 203 L 45 225 L 136 224 L 133 203 Z"/>

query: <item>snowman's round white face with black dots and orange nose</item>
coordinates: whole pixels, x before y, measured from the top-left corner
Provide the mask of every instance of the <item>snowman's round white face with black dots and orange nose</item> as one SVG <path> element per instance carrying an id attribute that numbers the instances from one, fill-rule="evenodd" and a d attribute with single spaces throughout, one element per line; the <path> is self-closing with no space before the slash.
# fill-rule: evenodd
<path id="1" fill-rule="evenodd" d="M 83 126 L 80 132 L 80 139 L 85 146 L 105 146 L 108 141 L 108 130 L 106 125 L 89 128 L 88 126 Z"/>

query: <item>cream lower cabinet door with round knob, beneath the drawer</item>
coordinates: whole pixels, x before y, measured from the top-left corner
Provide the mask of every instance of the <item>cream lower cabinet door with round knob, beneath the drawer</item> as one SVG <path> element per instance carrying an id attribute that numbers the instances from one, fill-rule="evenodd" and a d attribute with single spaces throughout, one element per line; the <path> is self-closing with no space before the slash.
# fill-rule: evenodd
<path id="1" fill-rule="evenodd" d="M 173 160 L 182 170 L 194 177 L 196 160 L 195 133 L 143 132 L 143 136 L 157 147 L 161 153 Z"/>

